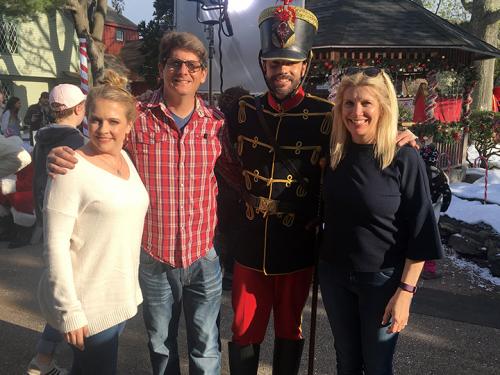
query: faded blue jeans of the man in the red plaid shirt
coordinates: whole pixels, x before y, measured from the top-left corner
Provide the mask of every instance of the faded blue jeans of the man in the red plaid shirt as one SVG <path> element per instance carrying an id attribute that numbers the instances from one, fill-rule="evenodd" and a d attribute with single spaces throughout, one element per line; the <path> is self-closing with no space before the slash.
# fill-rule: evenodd
<path id="1" fill-rule="evenodd" d="M 143 317 L 153 374 L 180 374 L 177 331 L 184 308 L 191 375 L 219 375 L 222 272 L 214 249 L 187 268 L 141 253 Z"/>

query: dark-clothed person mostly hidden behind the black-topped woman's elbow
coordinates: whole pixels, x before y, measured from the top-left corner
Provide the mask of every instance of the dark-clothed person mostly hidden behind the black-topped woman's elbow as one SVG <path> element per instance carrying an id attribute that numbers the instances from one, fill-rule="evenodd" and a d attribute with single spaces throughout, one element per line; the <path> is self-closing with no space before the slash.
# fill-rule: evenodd
<path id="1" fill-rule="evenodd" d="M 441 212 L 446 212 L 451 203 L 451 190 L 448 176 L 437 166 L 439 152 L 434 145 L 427 145 L 420 150 L 420 155 L 424 159 L 431 189 L 432 206 L 436 222 L 439 222 Z M 424 271 L 421 277 L 424 280 L 437 279 L 441 274 L 436 270 L 436 261 L 428 260 L 424 264 Z"/>

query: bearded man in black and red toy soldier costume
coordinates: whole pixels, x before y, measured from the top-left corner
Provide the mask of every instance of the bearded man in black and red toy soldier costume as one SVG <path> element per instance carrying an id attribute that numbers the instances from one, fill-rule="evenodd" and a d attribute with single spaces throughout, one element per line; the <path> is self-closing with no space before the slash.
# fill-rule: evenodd
<path id="1" fill-rule="evenodd" d="M 259 17 L 260 65 L 269 91 L 240 98 L 227 119 L 242 165 L 244 230 L 235 256 L 231 374 L 257 374 L 259 348 L 274 314 L 274 375 L 297 374 L 304 340 L 320 195 L 320 159 L 328 152 L 332 104 L 302 83 L 318 29 L 316 16 L 290 0 Z"/>

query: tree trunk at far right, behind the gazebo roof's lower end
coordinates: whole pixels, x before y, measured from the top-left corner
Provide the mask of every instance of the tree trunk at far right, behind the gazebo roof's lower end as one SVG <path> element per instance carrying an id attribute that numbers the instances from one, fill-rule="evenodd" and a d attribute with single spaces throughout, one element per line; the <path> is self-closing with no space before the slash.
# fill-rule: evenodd
<path id="1" fill-rule="evenodd" d="M 496 11 L 496 12 L 495 12 Z M 474 0 L 470 27 L 479 39 L 496 47 L 498 45 L 498 27 L 500 17 L 497 0 Z M 495 59 L 481 60 L 475 63 L 478 82 L 474 91 L 474 109 L 491 110 L 493 98 L 493 78 Z"/>

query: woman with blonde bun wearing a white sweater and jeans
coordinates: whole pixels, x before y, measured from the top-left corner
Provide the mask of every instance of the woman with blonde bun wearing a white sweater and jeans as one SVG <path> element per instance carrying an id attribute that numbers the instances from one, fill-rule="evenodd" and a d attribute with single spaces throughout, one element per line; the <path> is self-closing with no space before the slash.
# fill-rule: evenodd
<path id="1" fill-rule="evenodd" d="M 116 373 L 118 337 L 142 302 L 140 243 L 148 194 L 122 151 L 135 99 L 116 73 L 87 97 L 90 141 L 79 162 L 47 184 L 38 298 L 73 349 L 72 374 Z"/>

